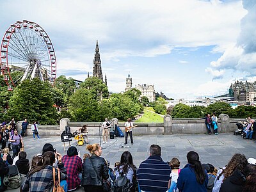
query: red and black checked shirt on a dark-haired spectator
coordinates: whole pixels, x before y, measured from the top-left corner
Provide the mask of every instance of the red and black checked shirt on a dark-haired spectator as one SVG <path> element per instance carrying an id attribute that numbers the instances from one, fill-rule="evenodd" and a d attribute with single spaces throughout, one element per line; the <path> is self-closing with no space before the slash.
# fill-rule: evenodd
<path id="1" fill-rule="evenodd" d="M 67 170 L 68 190 L 76 189 L 81 184 L 78 174 L 82 172 L 82 159 L 78 156 L 69 157 L 65 155 L 62 157 L 62 162 Z"/>

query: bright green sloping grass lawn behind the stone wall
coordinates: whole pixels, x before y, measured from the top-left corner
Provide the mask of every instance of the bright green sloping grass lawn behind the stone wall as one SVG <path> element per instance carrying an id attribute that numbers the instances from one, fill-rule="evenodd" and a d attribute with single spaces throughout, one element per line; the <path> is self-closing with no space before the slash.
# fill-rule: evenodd
<path id="1" fill-rule="evenodd" d="M 137 122 L 137 123 L 138 122 L 141 122 L 141 123 L 163 123 L 164 118 L 163 118 L 163 116 L 156 114 L 156 113 L 152 112 L 151 110 L 148 111 L 148 109 L 146 109 L 146 110 L 144 110 L 144 114 L 142 114 L 141 118 L 139 118 L 135 122 Z"/>

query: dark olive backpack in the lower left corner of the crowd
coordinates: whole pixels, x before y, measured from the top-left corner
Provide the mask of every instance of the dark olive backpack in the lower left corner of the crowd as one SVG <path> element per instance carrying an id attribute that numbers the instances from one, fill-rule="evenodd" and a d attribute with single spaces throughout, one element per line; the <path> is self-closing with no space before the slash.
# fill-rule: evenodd
<path id="1" fill-rule="evenodd" d="M 3 182 L 8 189 L 17 189 L 20 187 L 21 175 L 16 165 L 9 165 L 8 175 L 4 177 Z"/>

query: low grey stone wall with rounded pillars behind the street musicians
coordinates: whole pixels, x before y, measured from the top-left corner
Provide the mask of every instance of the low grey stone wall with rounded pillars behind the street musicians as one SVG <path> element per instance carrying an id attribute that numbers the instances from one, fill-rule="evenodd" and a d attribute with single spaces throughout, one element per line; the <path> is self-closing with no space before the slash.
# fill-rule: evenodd
<path id="1" fill-rule="evenodd" d="M 237 130 L 236 123 L 238 121 L 244 121 L 245 118 L 229 118 L 228 115 L 221 114 L 218 117 L 218 132 L 234 132 Z M 170 115 L 164 116 L 163 124 L 153 123 L 134 123 L 138 127 L 134 127 L 133 135 L 161 135 L 161 134 L 205 134 L 207 129 L 205 127 L 205 120 L 202 118 L 191 119 L 178 119 L 172 118 Z M 40 136 L 60 136 L 61 132 L 65 130 L 65 126 L 70 126 L 70 131 L 74 132 L 82 127 L 84 124 L 88 127 L 88 134 L 97 136 L 101 131 L 101 122 L 70 122 L 68 118 L 60 120 L 60 125 L 38 125 L 38 132 Z M 124 132 L 124 123 L 118 122 L 116 118 L 111 120 L 111 129 L 113 130 L 115 125 L 118 125 Z M 21 122 L 17 123 L 17 127 L 20 130 Z M 31 132 L 31 125 L 28 126 L 28 136 L 33 135 Z M 254 134 L 253 138 L 256 137 Z"/>

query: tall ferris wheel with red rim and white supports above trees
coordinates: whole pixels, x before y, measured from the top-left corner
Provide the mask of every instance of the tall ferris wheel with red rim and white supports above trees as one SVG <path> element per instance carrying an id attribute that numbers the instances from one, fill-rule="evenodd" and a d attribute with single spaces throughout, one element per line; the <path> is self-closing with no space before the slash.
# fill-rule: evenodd
<path id="1" fill-rule="evenodd" d="M 25 79 L 56 79 L 56 56 L 52 42 L 38 24 L 17 21 L 4 33 L 0 57 L 1 75 L 12 91 Z"/>

